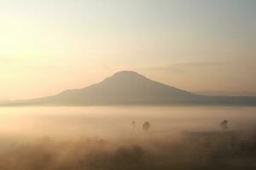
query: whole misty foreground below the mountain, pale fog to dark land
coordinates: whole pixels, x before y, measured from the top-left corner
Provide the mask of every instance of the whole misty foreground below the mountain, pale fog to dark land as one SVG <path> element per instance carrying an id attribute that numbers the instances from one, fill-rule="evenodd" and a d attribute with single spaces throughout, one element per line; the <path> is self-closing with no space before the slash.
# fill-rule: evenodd
<path id="1" fill-rule="evenodd" d="M 254 107 L 0 109 L 0 169 L 255 169 Z M 221 122 L 228 120 L 226 126 Z M 150 127 L 143 123 L 149 122 Z"/>

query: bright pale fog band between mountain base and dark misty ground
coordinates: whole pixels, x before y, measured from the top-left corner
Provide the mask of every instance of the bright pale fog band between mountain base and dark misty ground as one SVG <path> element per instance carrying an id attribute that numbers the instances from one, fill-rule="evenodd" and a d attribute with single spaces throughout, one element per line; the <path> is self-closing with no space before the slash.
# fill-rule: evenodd
<path id="1" fill-rule="evenodd" d="M 131 122 L 137 122 L 140 138 L 141 125 L 148 121 L 152 125 L 151 135 L 159 138 L 183 131 L 218 131 L 223 118 L 229 119 L 230 131 L 245 131 L 255 127 L 254 111 L 255 107 L 211 106 L 6 107 L 0 110 L 0 135 L 3 139 L 15 139 L 12 143 L 44 136 L 130 139 L 134 137 Z"/>

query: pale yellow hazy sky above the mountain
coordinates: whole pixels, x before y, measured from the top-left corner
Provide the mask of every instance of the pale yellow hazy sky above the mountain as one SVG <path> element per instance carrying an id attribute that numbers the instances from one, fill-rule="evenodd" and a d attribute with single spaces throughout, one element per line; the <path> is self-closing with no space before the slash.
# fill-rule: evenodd
<path id="1" fill-rule="evenodd" d="M 189 91 L 256 91 L 255 0 L 0 0 L 0 99 L 134 70 Z"/>

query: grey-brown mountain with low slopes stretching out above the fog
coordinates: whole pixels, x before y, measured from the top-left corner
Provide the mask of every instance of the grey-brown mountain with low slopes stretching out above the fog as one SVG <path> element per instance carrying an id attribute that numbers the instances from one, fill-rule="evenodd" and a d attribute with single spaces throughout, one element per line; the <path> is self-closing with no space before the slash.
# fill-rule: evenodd
<path id="1" fill-rule="evenodd" d="M 256 105 L 256 97 L 204 96 L 155 82 L 135 71 L 119 71 L 86 88 L 7 105 Z"/>

